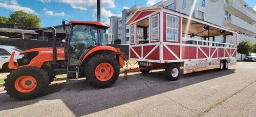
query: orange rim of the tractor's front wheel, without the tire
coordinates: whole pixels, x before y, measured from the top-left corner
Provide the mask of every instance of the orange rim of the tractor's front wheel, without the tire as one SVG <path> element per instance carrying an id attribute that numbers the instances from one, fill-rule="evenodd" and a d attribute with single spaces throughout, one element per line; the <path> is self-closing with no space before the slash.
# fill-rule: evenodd
<path id="1" fill-rule="evenodd" d="M 34 77 L 21 76 L 15 81 L 14 86 L 19 92 L 31 92 L 36 88 L 37 82 Z"/>

